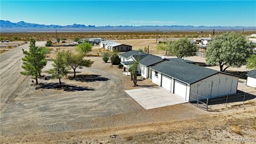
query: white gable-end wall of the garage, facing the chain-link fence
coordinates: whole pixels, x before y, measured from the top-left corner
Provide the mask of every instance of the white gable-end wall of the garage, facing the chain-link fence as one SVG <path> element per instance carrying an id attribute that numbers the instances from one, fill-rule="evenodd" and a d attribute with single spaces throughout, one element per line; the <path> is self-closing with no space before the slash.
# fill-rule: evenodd
<path id="1" fill-rule="evenodd" d="M 237 92 L 238 77 L 216 74 L 190 85 L 190 97 L 196 99 L 196 94 L 215 98 Z M 199 99 L 199 98 L 198 98 Z"/>

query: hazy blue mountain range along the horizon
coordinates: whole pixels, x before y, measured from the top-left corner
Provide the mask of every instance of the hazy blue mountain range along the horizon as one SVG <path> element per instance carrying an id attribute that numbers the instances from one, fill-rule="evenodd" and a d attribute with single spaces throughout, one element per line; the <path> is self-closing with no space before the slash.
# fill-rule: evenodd
<path id="1" fill-rule="evenodd" d="M 36 23 L 28 23 L 25 21 L 11 22 L 9 20 L 0 20 L 1 32 L 31 32 L 31 31 L 238 31 L 238 30 L 256 30 L 255 26 L 252 27 L 206 27 L 206 26 L 85 26 L 74 23 L 73 25 L 60 26 L 60 25 L 40 25 Z"/>

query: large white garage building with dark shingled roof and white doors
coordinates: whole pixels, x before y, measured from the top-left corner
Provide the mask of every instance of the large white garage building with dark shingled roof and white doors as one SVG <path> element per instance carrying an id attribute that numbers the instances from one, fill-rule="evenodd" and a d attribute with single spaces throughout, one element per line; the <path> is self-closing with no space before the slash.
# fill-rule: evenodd
<path id="1" fill-rule="evenodd" d="M 216 98 L 237 92 L 237 76 L 177 59 L 150 66 L 149 73 L 153 83 L 186 101 L 204 99 L 203 97 Z"/>

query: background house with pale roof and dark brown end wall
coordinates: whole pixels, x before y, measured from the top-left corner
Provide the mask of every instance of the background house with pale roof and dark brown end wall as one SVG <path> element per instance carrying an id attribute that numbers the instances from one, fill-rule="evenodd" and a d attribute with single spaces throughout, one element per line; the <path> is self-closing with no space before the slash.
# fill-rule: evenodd
<path id="1" fill-rule="evenodd" d="M 111 51 L 117 50 L 119 52 L 127 52 L 132 50 L 132 45 L 116 43 L 113 41 L 102 41 L 100 43 L 100 47 Z"/>

